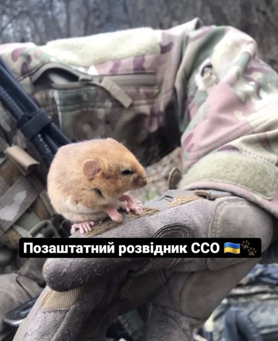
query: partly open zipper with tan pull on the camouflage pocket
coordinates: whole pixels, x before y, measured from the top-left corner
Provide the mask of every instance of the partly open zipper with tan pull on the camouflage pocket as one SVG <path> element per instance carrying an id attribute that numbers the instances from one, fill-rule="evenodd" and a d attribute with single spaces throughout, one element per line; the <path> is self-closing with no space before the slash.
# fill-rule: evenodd
<path id="1" fill-rule="evenodd" d="M 53 69 L 66 71 L 69 73 L 69 76 L 76 77 L 76 80 L 72 81 L 63 79 L 63 77 L 55 75 L 55 71 L 53 71 Z M 108 91 L 111 96 L 118 100 L 125 108 L 128 108 L 131 105 L 132 99 L 122 89 L 122 87 L 157 85 L 157 77 L 153 72 L 120 75 L 88 75 L 59 63 L 44 64 L 29 74 L 29 77 L 31 81 L 35 83 L 39 80 L 43 73 L 47 71 L 49 71 L 49 78 L 53 80 L 51 87 L 54 89 L 73 89 L 81 87 L 82 84 L 95 85 Z"/>

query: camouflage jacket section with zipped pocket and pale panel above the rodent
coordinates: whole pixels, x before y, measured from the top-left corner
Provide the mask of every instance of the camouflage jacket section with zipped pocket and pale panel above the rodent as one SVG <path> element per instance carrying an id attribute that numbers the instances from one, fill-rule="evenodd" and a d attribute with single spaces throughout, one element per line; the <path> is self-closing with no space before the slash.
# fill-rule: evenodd
<path id="1" fill-rule="evenodd" d="M 155 163 L 180 145 L 178 103 L 186 99 L 175 80 L 187 35 L 200 25 L 9 44 L 0 54 L 70 140 L 112 137 Z"/>

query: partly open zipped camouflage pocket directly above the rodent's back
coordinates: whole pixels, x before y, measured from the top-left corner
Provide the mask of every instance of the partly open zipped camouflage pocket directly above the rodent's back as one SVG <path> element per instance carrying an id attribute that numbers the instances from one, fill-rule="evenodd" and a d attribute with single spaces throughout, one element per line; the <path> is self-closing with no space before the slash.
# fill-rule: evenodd
<path id="1" fill-rule="evenodd" d="M 164 117 L 157 117 L 162 111 L 154 111 L 162 96 L 155 70 L 89 75 L 62 63 L 47 63 L 30 79 L 40 107 L 72 141 L 113 137 L 141 160 L 150 157 L 146 149 L 153 145 L 152 159 L 158 159 L 156 141 L 163 133 L 155 130 Z M 152 115 L 156 128 L 148 133 Z"/>

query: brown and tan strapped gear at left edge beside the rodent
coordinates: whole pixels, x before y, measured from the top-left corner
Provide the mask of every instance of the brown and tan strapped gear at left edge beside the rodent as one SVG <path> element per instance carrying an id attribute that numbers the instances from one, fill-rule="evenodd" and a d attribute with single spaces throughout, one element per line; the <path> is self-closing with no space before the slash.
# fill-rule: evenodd
<path id="1" fill-rule="evenodd" d="M 19 146 L 0 138 L 0 243 L 17 249 L 21 237 L 57 236 L 54 211 L 38 162 Z"/>

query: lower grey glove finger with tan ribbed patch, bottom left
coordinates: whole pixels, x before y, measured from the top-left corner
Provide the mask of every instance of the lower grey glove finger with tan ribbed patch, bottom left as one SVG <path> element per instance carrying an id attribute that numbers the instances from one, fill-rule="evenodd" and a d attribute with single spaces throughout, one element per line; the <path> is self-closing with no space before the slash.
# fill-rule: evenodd
<path id="1" fill-rule="evenodd" d="M 21 323 L 14 341 L 74 341 L 103 297 L 102 286 L 57 292 L 46 287 Z M 97 322 L 97 321 L 96 321 Z"/>

